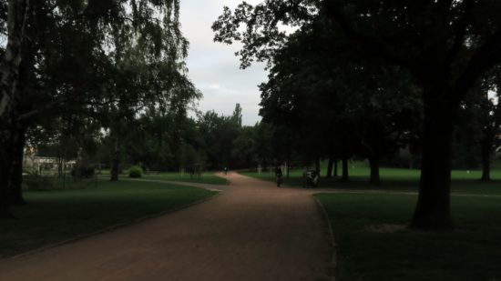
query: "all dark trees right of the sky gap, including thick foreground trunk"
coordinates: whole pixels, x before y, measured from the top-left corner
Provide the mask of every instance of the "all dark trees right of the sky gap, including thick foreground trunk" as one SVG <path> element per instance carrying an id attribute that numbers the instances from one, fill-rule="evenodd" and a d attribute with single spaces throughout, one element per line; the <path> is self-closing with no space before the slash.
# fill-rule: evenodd
<path id="1" fill-rule="evenodd" d="M 447 229 L 456 125 L 470 114 L 484 123 L 485 170 L 497 134 L 486 93 L 498 88 L 499 12 L 489 0 L 266 0 L 225 7 L 212 28 L 216 41 L 243 44 L 242 67 L 268 63 L 263 119 L 317 134 L 308 146 L 326 139 L 343 159 L 358 143 L 373 170 L 395 142 L 415 143 L 422 174 L 411 225 Z"/>

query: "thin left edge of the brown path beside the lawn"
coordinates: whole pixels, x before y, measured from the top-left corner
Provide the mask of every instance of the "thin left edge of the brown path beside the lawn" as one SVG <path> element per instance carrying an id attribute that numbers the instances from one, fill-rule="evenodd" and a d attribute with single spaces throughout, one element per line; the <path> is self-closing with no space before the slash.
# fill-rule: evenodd
<path id="1" fill-rule="evenodd" d="M 198 187 L 198 188 L 200 188 L 200 187 Z M 16 258 L 20 258 L 20 257 L 23 257 L 23 256 L 31 256 L 31 255 L 34 255 L 36 253 L 40 253 L 40 252 L 46 251 L 46 250 L 48 250 L 50 248 L 53 248 L 53 247 L 56 247 L 56 246 L 63 246 L 63 245 L 69 244 L 69 243 L 74 243 L 74 242 L 77 242 L 79 240 L 83 240 L 85 238 L 91 237 L 91 236 L 97 236 L 97 235 L 100 235 L 100 234 L 104 234 L 104 233 L 107 233 L 107 232 L 111 232 L 111 231 L 117 230 L 117 229 L 125 227 L 125 226 L 135 225 L 135 224 L 138 224 L 140 222 L 146 221 L 148 219 L 157 218 L 159 216 L 164 216 L 164 215 L 168 215 L 170 213 L 178 212 L 178 211 L 180 211 L 182 209 L 189 208 L 190 206 L 199 205 L 201 203 L 209 201 L 209 200 L 211 200 L 211 199 L 213 199 L 213 198 L 215 198 L 217 196 L 220 196 L 221 193 L 222 193 L 221 190 L 219 190 L 219 191 L 218 190 L 210 190 L 210 191 L 213 191 L 214 194 L 211 195 L 211 196 L 209 196 L 209 197 L 205 197 L 205 198 L 199 199 L 197 201 L 191 202 L 191 203 L 189 203 L 187 205 L 178 206 L 176 208 L 173 208 L 173 209 L 170 209 L 170 210 L 165 210 L 165 211 L 162 211 L 162 212 L 159 212 L 159 213 L 155 213 L 155 214 L 151 214 L 151 215 L 148 215 L 148 216 L 140 216 L 140 217 L 138 217 L 136 219 L 128 220 L 128 221 L 125 221 L 125 222 L 122 222 L 122 223 L 119 223 L 119 224 L 116 224 L 116 225 L 112 225 L 112 226 L 107 226 L 107 227 L 104 227 L 102 229 L 96 230 L 94 232 L 89 232 L 89 233 L 86 233 L 86 234 L 82 234 L 82 235 L 74 236 L 74 237 L 71 237 L 71 238 L 67 238 L 66 240 L 59 241 L 59 242 L 56 242 L 56 243 L 53 243 L 53 244 L 49 244 L 49 245 L 46 245 L 46 246 L 42 246 L 42 247 L 39 247 L 39 248 L 36 248 L 36 249 L 33 249 L 33 250 L 29 250 L 27 252 L 24 252 L 24 253 L 15 255 L 15 256 L 8 256 L 8 257 L 5 257 L 5 258 L 0 258 L 0 263 L 8 261 L 8 260 L 13 260 L 13 259 L 16 259 Z"/>

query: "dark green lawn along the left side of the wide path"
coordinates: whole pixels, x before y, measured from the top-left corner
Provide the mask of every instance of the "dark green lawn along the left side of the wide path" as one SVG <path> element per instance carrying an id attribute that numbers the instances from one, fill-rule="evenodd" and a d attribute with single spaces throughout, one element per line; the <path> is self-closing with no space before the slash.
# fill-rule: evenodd
<path id="1" fill-rule="evenodd" d="M 12 209 L 18 219 L 0 221 L 0 258 L 174 210 L 214 194 L 189 186 L 105 180 L 99 180 L 97 188 L 89 182 L 86 189 L 29 191 L 25 193 L 28 205 Z"/>

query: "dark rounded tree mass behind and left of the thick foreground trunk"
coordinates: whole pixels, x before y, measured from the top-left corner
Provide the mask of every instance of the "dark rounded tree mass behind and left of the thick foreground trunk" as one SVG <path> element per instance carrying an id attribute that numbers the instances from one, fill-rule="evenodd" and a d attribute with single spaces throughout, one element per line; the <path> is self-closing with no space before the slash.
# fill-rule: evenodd
<path id="1" fill-rule="evenodd" d="M 328 156 L 327 175 L 337 157 L 348 180 L 347 161 L 357 155 L 369 159 L 370 182 L 379 185 L 381 158 L 393 156 L 414 125 L 408 116 L 420 109 L 417 91 L 398 67 L 332 42 L 325 25 L 303 26 L 275 53 L 269 82 L 261 85 L 261 115 L 299 131 L 297 148 L 306 158 Z"/>

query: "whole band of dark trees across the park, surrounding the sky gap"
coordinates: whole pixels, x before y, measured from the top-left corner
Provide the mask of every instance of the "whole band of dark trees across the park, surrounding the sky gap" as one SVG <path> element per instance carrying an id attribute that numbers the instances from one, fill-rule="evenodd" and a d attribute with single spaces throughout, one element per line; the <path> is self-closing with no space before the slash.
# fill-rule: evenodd
<path id="1" fill-rule="evenodd" d="M 405 151 L 421 166 L 412 226 L 452 226 L 452 166 L 490 178 L 501 109 L 501 4 L 266 0 L 225 8 L 215 40 L 241 41 L 241 67 L 266 62 L 262 122 L 189 117 L 178 0 L 0 2 L 0 217 L 23 204 L 27 144 L 79 166 L 149 170 L 313 165 Z M 244 25 L 244 26 L 243 26 Z M 290 28 L 283 28 L 289 25 Z M 491 95 L 496 95 L 495 98 Z M 474 148 L 472 148 L 474 147 Z M 411 161 L 411 166 L 413 161 Z"/>

